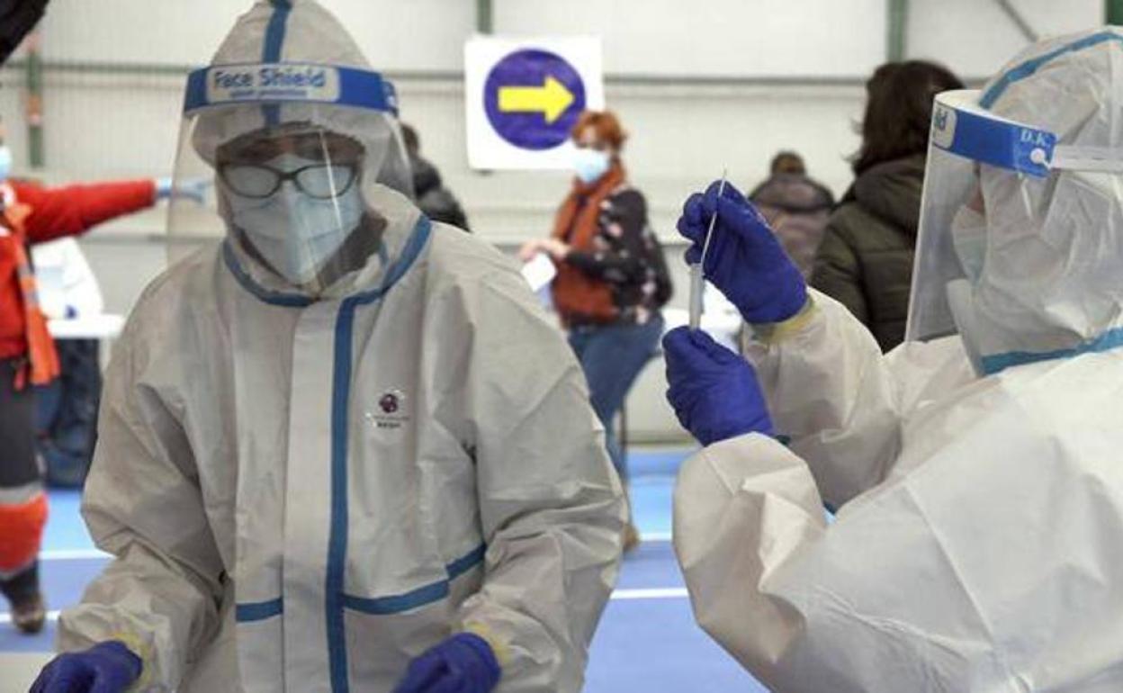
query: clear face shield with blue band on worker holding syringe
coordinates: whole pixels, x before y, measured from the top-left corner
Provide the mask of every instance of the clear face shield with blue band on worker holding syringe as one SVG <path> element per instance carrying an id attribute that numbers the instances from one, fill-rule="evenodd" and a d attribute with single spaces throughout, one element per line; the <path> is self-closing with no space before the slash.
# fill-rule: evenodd
<path id="1" fill-rule="evenodd" d="M 1079 322 L 1050 314 L 1068 310 L 1069 299 L 1049 291 L 1070 274 L 1066 267 L 1074 262 L 1072 236 L 1078 235 L 1068 227 L 1063 238 L 1050 230 L 1058 228 L 1060 207 L 1071 199 L 1058 195 L 1057 188 L 1074 175 L 1123 172 L 1123 153 L 1059 144 L 1056 134 L 996 116 L 978 99 L 975 90 L 935 98 L 905 339 L 964 334 L 976 368 L 993 372 L 982 362 L 1004 347 L 980 348 L 966 332 L 1020 335 L 1023 339 L 1006 339 L 1019 341 L 1011 349 L 1040 343 L 1048 352 L 1069 337 L 1046 332 L 1060 334 L 1065 329 L 1056 326 Z M 1072 283 L 1065 291 L 1075 297 L 1078 288 Z M 980 294 L 988 299 L 986 328 L 976 325 Z M 1029 334 L 1033 330 L 1042 336 Z"/>

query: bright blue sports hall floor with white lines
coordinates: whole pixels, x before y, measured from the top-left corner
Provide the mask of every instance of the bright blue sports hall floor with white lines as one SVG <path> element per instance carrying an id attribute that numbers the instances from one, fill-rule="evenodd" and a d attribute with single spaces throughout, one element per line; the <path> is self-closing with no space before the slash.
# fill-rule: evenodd
<path id="1" fill-rule="evenodd" d="M 755 682 L 694 624 L 670 546 L 675 473 L 688 450 L 632 450 L 631 493 L 643 544 L 624 558 L 617 591 L 593 640 L 588 693 L 758 693 Z M 48 609 L 79 601 L 106 559 L 97 554 L 77 512 L 76 492 L 51 494 L 42 576 Z M 7 604 L 0 604 L 7 610 Z M 747 627 L 749 624 L 746 624 Z M 36 637 L 17 635 L 0 611 L 0 655 L 48 653 L 55 619 Z"/>

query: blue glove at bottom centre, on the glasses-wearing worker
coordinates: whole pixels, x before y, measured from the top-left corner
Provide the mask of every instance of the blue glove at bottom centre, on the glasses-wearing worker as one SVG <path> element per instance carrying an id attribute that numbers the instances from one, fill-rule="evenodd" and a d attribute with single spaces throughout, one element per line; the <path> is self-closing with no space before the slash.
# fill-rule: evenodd
<path id="1" fill-rule="evenodd" d="M 460 632 L 411 662 L 394 693 L 487 693 L 499 677 L 491 645 L 475 633 Z"/>

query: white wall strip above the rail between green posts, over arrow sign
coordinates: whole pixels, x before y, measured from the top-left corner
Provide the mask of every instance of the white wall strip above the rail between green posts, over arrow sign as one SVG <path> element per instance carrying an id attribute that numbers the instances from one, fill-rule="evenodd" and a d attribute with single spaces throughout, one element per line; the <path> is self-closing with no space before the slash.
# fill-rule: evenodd
<path id="1" fill-rule="evenodd" d="M 499 0 L 497 33 L 604 37 L 612 74 L 855 76 L 884 60 L 885 0 Z M 846 27 L 846 30 L 839 30 Z"/>

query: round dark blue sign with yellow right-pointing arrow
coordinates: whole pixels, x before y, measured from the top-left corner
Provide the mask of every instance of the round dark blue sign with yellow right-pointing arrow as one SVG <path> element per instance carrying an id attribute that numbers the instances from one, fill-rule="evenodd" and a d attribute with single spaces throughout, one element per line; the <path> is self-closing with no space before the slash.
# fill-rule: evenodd
<path id="1" fill-rule="evenodd" d="M 559 55 L 530 48 L 487 73 L 484 109 L 495 133 L 523 149 L 553 149 L 569 138 L 585 110 L 585 84 Z"/>

